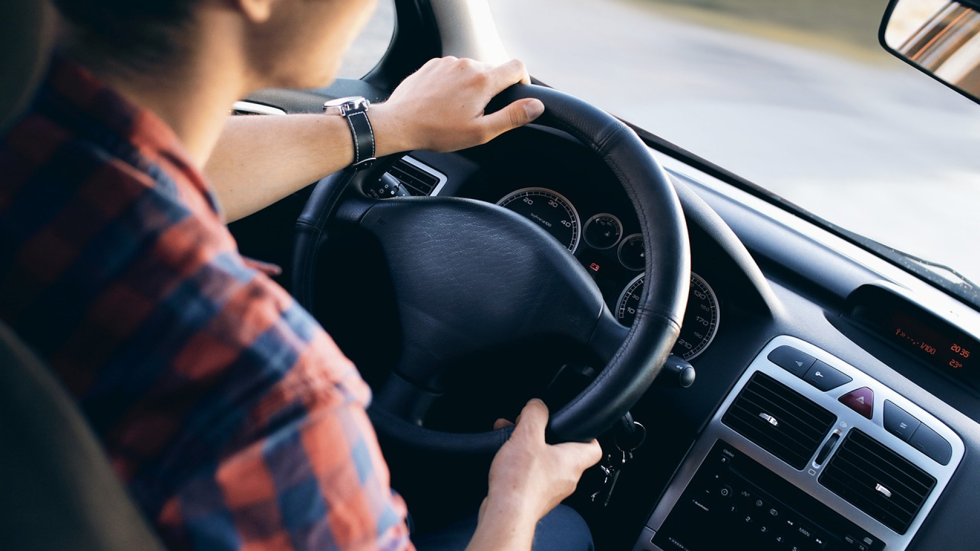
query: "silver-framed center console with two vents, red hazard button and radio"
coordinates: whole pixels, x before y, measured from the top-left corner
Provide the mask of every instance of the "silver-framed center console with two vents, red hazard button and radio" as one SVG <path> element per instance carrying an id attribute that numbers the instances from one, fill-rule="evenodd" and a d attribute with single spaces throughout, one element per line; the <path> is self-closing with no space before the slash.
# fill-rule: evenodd
<path id="1" fill-rule="evenodd" d="M 964 453 L 948 426 L 790 336 L 718 409 L 634 551 L 905 549 Z"/>

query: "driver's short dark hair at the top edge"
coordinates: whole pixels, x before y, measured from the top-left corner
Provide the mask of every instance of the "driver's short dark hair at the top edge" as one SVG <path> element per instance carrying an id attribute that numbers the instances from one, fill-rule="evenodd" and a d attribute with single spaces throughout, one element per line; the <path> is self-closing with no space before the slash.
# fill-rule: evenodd
<path id="1" fill-rule="evenodd" d="M 73 39 L 133 68 L 166 62 L 180 48 L 177 31 L 197 0 L 53 0 Z M 79 45 L 79 44 L 76 44 Z"/>

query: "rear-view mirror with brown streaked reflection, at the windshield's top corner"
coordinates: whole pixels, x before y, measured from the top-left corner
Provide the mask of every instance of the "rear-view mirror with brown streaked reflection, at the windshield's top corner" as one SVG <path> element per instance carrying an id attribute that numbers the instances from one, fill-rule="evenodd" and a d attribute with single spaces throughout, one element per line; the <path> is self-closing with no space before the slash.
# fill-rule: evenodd
<path id="1" fill-rule="evenodd" d="M 980 103 L 978 10 L 978 0 L 891 0 L 878 39 L 912 67 Z"/>

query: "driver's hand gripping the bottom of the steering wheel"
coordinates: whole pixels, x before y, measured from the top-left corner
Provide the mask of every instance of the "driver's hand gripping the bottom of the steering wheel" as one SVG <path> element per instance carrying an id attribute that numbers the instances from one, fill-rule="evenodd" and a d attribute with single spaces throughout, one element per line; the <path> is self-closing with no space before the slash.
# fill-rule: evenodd
<path id="1" fill-rule="evenodd" d="M 602 448 L 595 440 L 548 444 L 547 425 L 544 402 L 528 402 L 514 433 L 490 466 L 490 489 L 481 518 L 493 512 L 537 523 L 575 491 L 586 469 L 602 459 Z"/>

